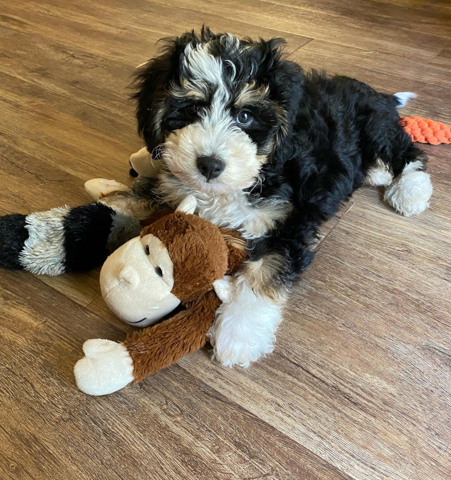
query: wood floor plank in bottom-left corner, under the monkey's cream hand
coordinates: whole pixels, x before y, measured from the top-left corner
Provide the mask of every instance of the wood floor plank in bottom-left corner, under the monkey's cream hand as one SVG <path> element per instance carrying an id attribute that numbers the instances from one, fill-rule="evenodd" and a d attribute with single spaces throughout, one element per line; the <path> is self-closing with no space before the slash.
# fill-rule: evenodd
<path id="1" fill-rule="evenodd" d="M 83 394 L 82 341 L 124 334 L 23 273 L 3 274 L 0 295 L 2 479 L 349 479 L 177 366 Z"/>

